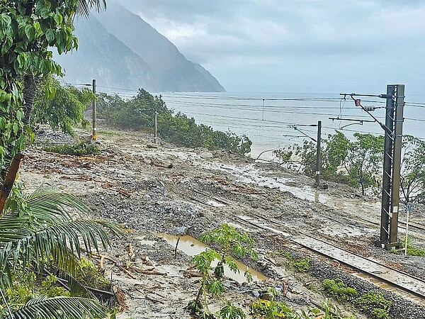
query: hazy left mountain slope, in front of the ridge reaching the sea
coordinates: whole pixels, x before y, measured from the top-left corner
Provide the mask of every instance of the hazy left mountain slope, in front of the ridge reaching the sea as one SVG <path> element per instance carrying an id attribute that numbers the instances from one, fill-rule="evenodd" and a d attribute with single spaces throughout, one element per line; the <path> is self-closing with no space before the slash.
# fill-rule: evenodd
<path id="1" fill-rule="evenodd" d="M 94 16 L 77 21 L 75 33 L 79 38 L 78 51 L 55 57 L 64 68 L 67 82 L 91 83 L 91 79 L 96 79 L 100 86 L 159 89 L 151 67 L 108 33 Z"/>

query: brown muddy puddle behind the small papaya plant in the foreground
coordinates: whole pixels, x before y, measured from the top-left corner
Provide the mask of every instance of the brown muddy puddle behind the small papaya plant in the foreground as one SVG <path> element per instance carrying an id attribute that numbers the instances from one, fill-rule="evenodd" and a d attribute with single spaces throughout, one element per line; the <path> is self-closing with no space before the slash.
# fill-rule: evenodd
<path id="1" fill-rule="evenodd" d="M 169 245 L 176 247 L 177 240 L 179 240 L 179 236 L 175 235 L 169 235 L 169 234 L 157 234 L 158 237 L 163 238 L 166 240 Z M 189 235 L 184 235 L 180 237 L 179 245 L 177 247 L 178 251 L 184 252 L 188 256 L 195 256 L 196 254 L 199 254 L 200 252 L 203 252 L 207 249 L 207 245 L 205 245 L 203 242 L 200 242 L 199 240 L 196 240 L 196 238 L 193 238 Z M 212 263 L 212 267 L 215 267 L 217 265 L 217 261 Z M 225 266 L 225 276 L 233 279 L 234 281 L 239 282 L 239 284 L 242 284 L 243 282 L 246 282 L 246 279 L 244 277 L 244 272 L 246 270 L 246 265 L 242 264 L 242 262 L 237 262 L 239 264 L 240 272 L 239 274 L 235 274 L 232 272 L 229 267 Z M 252 279 L 254 281 L 263 280 L 266 281 L 268 277 L 261 274 L 261 272 L 257 272 L 255 269 L 249 268 L 249 272 L 252 275 Z"/>

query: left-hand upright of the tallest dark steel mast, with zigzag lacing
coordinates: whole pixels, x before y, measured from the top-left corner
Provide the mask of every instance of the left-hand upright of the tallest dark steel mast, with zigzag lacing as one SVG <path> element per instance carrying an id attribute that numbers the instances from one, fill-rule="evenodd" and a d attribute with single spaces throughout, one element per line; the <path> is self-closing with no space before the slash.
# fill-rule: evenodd
<path id="1" fill-rule="evenodd" d="M 387 85 L 387 94 L 395 94 L 395 85 Z M 385 125 L 391 130 L 394 127 L 394 101 L 387 99 L 385 106 Z M 380 241 L 379 245 L 385 245 L 388 242 L 390 234 L 390 211 L 391 211 L 391 184 L 392 184 L 392 134 L 385 131 L 384 140 L 384 165 L 382 175 L 382 205 L 380 220 Z"/>

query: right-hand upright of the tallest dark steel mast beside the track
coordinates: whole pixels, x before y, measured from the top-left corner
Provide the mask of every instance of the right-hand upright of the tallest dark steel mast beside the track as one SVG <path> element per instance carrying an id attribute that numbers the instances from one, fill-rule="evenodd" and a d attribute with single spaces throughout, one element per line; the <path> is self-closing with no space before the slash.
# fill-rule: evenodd
<path id="1" fill-rule="evenodd" d="M 403 138 L 403 112 L 404 112 L 404 84 L 397 84 L 395 97 L 395 130 L 394 130 L 394 153 L 392 157 L 392 191 L 391 206 L 392 216 L 390 219 L 390 247 L 399 247 L 397 241 L 398 212 L 400 194 L 400 170 L 402 162 L 402 138 Z"/>

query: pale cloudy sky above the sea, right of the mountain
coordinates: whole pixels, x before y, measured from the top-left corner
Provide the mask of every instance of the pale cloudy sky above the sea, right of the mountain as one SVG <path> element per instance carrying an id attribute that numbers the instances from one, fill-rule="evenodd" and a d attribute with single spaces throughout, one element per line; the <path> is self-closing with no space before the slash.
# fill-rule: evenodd
<path id="1" fill-rule="evenodd" d="M 227 91 L 425 98 L 425 1 L 119 1 Z"/>

